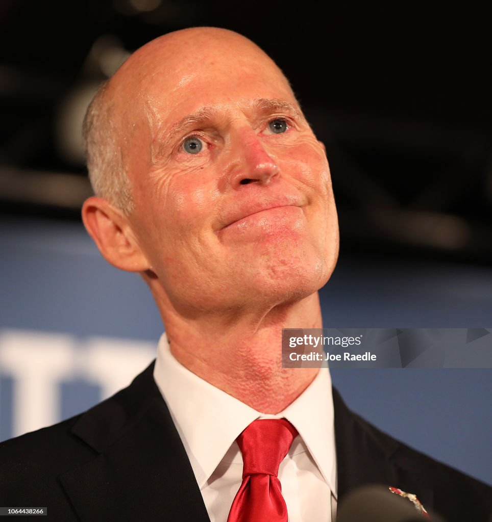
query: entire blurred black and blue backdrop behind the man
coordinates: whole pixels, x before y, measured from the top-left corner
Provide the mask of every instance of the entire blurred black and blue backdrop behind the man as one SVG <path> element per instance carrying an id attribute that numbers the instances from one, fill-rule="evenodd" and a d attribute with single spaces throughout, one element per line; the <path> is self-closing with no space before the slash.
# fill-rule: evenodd
<path id="1" fill-rule="evenodd" d="M 333 327 L 492 327 L 489 23 L 472 5 L 198 0 L 0 3 L 0 439 L 128 384 L 163 331 L 138 276 L 85 234 L 82 118 L 168 31 L 226 27 L 291 80 L 340 218 Z M 227 50 L 224 50 L 227 52 Z M 196 50 L 200 60 L 200 50 Z M 338 370 L 350 407 L 492 483 L 492 370 Z"/>

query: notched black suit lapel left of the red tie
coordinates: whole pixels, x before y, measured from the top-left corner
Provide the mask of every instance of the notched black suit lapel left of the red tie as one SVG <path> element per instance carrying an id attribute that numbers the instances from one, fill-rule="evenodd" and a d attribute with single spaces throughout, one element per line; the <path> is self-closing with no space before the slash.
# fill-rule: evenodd
<path id="1" fill-rule="evenodd" d="M 97 452 L 59 477 L 83 522 L 209 521 L 153 366 L 85 413 L 72 430 Z"/>

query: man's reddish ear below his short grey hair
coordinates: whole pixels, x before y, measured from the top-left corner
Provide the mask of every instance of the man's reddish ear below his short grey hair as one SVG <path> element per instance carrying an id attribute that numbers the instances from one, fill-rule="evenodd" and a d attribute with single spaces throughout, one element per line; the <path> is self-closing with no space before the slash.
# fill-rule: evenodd
<path id="1" fill-rule="evenodd" d="M 127 217 L 106 199 L 96 196 L 86 199 L 82 206 L 82 220 L 108 263 L 129 272 L 150 268 Z"/>

